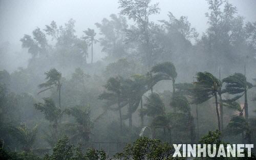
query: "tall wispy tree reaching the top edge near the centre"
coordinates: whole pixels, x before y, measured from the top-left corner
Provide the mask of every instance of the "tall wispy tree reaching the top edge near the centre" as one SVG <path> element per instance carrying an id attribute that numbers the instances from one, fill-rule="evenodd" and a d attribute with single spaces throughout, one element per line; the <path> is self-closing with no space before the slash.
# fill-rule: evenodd
<path id="1" fill-rule="evenodd" d="M 153 47 L 154 37 L 151 34 L 149 16 L 159 13 L 158 3 L 151 5 L 151 0 L 119 0 L 120 14 L 126 15 L 129 19 L 137 22 L 138 28 L 131 28 L 127 31 L 128 39 L 131 41 L 139 41 L 142 52 L 145 54 L 146 65 L 149 66 L 153 63 Z M 143 55 L 142 55 L 143 56 Z"/>

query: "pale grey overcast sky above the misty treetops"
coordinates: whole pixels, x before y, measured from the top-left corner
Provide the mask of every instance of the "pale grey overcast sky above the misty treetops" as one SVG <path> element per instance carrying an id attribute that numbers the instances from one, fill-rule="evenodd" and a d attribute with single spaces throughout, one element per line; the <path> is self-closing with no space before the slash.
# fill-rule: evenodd
<path id="1" fill-rule="evenodd" d="M 168 11 L 176 17 L 188 16 L 191 25 L 202 33 L 207 19 L 204 13 L 208 6 L 205 0 L 153 0 L 159 2 L 159 15 L 152 20 L 167 19 Z M 230 0 L 237 6 L 238 13 L 249 21 L 256 21 L 256 0 Z M 63 25 L 70 18 L 76 20 L 76 31 L 81 35 L 87 28 L 96 28 L 95 22 L 110 14 L 119 13 L 117 0 L 0 0 L 0 43 L 9 41 L 19 44 L 24 34 L 31 34 L 36 28 L 45 28 L 52 20 Z"/>

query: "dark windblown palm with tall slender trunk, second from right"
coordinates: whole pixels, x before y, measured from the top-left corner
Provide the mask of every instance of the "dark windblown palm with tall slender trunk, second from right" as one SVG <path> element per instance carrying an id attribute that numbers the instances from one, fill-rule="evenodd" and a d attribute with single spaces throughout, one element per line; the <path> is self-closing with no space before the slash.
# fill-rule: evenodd
<path id="1" fill-rule="evenodd" d="M 221 131 L 220 114 L 218 108 L 218 90 L 220 90 L 220 81 L 208 72 L 198 72 L 197 82 L 194 82 L 194 92 L 197 95 L 195 102 L 202 103 L 215 97 L 216 113 L 218 118 L 218 129 Z"/>

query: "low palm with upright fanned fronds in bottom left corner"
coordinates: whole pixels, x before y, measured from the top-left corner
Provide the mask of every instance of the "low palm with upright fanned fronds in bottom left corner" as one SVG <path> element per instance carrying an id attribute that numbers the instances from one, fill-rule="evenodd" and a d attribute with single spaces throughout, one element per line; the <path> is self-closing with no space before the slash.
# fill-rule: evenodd
<path id="1" fill-rule="evenodd" d="M 32 145 L 36 139 L 37 125 L 35 125 L 33 129 L 29 130 L 25 123 L 20 127 L 11 127 L 10 132 L 14 138 L 17 139 L 20 144 L 22 144 L 24 151 L 31 151 Z"/>

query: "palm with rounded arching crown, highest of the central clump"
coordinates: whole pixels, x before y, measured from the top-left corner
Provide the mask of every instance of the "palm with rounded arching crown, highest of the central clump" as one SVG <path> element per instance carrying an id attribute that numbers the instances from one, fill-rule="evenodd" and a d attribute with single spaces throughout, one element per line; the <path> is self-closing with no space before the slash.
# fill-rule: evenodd
<path id="1" fill-rule="evenodd" d="M 163 62 L 156 64 L 152 67 L 151 73 L 154 73 L 153 78 L 156 82 L 161 80 L 172 80 L 173 82 L 173 96 L 175 95 L 175 80 L 177 78 L 177 72 L 172 62 Z M 176 111 L 176 108 L 174 107 Z"/>

